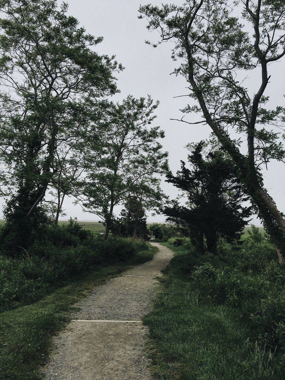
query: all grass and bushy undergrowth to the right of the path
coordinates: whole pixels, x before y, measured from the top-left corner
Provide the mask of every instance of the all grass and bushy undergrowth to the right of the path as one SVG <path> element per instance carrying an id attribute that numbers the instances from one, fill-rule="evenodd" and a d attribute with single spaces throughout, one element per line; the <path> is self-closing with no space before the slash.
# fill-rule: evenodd
<path id="1" fill-rule="evenodd" d="M 269 380 L 285 370 L 285 273 L 275 247 L 252 228 L 241 245 L 220 241 L 198 255 L 176 252 L 154 310 L 145 318 L 157 378 Z"/>

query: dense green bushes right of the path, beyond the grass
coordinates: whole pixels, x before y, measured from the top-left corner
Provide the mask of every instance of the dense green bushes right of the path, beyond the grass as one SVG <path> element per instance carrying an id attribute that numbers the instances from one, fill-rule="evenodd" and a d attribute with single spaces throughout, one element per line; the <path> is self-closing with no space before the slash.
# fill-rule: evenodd
<path id="1" fill-rule="evenodd" d="M 201 256 L 187 241 L 168 242 L 187 250 L 183 265 L 177 264 L 201 299 L 240 310 L 252 326 L 253 340 L 285 354 L 285 272 L 269 239 L 253 228 L 241 244 L 220 241 L 218 255 Z"/>

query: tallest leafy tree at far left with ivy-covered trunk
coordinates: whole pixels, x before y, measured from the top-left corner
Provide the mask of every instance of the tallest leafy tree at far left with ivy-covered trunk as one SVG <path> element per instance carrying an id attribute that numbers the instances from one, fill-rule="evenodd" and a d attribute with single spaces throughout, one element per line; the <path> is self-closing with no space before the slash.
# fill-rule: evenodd
<path id="1" fill-rule="evenodd" d="M 41 203 L 65 160 L 60 147 L 81 149 L 97 99 L 117 91 L 121 67 L 92 50 L 102 38 L 79 28 L 66 3 L 2 0 L 0 9 L 0 157 L 15 184 L 3 238 L 27 248 L 46 223 Z"/>

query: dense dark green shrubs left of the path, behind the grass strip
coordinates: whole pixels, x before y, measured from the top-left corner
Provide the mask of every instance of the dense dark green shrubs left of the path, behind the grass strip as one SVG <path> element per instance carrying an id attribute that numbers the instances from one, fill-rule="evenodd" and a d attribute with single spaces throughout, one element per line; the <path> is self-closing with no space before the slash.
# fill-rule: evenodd
<path id="1" fill-rule="evenodd" d="M 29 256 L 13 259 L 0 255 L 0 306 L 34 301 L 60 281 L 147 249 L 144 241 L 131 238 L 104 240 L 73 221 L 66 227 L 49 227 L 47 236 L 49 243 L 35 242 Z"/>

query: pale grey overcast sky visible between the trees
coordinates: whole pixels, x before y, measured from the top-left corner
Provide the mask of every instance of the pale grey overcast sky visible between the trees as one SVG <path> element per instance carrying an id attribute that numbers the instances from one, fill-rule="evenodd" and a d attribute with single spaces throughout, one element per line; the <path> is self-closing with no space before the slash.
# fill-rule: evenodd
<path id="1" fill-rule="evenodd" d="M 175 173 L 180 168 L 180 160 L 187 160 L 185 145 L 208 138 L 211 130 L 207 125 L 195 126 L 169 120 L 170 118 L 180 118 L 182 113 L 179 109 L 183 108 L 189 100 L 187 97 L 174 98 L 189 92 L 185 89 L 187 85 L 185 79 L 169 75 L 176 67 L 176 62 L 171 60 L 171 43 L 161 44 L 156 49 L 144 43 L 145 40 L 156 42 L 159 35 L 156 32 L 148 32 L 147 21 L 137 18 L 139 1 L 65 1 L 69 4 L 68 13 L 75 16 L 88 33 L 94 36 L 103 36 L 103 42 L 97 45 L 98 53 L 116 55 L 118 62 L 125 67 L 123 72 L 117 74 L 117 86 L 121 92 L 114 97 L 114 100 L 122 100 L 129 94 L 135 97 L 146 97 L 147 94 L 150 94 L 154 100 L 160 101 L 160 106 L 156 110 L 157 119 L 154 122 L 165 131 L 165 139 L 162 144 L 164 149 L 169 152 L 169 165 Z M 151 3 L 161 5 L 161 2 L 158 1 Z M 180 4 L 177 0 L 175 3 Z M 284 105 L 284 62 L 271 65 L 269 68 L 271 83 L 266 95 L 271 95 L 273 105 Z M 250 86 L 252 87 L 249 89 L 252 90 L 252 94 L 258 89 L 259 74 L 258 72 L 254 78 L 251 78 Z M 200 120 L 199 117 L 196 120 Z M 277 208 L 285 212 L 283 195 L 285 164 L 274 162 L 269 164 L 268 169 L 264 173 L 265 186 L 277 203 Z M 176 197 L 177 191 L 172 185 L 162 182 L 161 187 L 171 198 Z M 98 219 L 96 215 L 83 212 L 80 206 L 74 206 L 72 199 L 65 201 L 64 208 L 67 218 Z M 162 215 L 149 216 L 149 221 L 162 222 L 164 218 Z M 256 218 L 254 222 L 257 225 L 260 224 Z"/>

